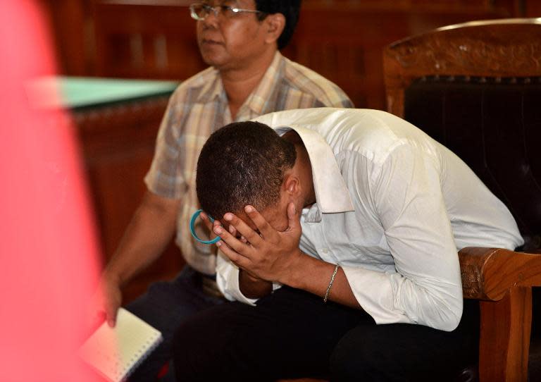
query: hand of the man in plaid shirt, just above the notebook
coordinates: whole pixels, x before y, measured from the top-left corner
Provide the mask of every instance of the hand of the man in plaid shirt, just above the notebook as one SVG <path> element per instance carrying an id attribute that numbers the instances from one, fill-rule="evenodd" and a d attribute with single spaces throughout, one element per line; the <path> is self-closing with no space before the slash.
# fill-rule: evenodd
<path id="1" fill-rule="evenodd" d="M 104 272 L 99 281 L 97 291 L 92 298 L 92 326 L 101 324 L 104 320 L 108 326 L 113 328 L 116 325 L 116 314 L 122 304 L 122 292 L 116 278 Z"/>

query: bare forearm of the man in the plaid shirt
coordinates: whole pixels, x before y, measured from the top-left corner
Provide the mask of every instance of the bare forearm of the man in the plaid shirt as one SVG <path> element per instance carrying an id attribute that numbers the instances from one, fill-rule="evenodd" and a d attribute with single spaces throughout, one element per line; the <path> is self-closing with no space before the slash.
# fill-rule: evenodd
<path id="1" fill-rule="evenodd" d="M 179 204 L 179 201 L 147 192 L 107 264 L 104 276 L 125 285 L 160 257 L 175 232 Z"/>

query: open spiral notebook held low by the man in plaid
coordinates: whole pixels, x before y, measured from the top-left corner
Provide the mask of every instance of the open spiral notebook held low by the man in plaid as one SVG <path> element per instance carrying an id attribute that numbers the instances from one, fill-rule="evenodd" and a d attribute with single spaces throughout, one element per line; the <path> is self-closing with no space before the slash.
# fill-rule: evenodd
<path id="1" fill-rule="evenodd" d="M 79 355 L 109 381 L 124 381 L 159 345 L 159 331 L 126 309 L 118 309 L 116 326 L 101 324 L 80 347 Z"/>

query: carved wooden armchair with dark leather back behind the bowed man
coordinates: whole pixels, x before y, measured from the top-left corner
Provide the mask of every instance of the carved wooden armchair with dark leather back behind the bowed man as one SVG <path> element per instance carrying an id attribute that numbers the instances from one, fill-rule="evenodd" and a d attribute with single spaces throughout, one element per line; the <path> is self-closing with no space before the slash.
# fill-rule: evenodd
<path id="1" fill-rule="evenodd" d="M 459 252 L 464 297 L 480 300 L 480 381 L 526 381 L 532 287 L 541 285 L 541 20 L 464 23 L 402 39 L 385 49 L 384 73 L 387 111 L 466 161 L 526 239 L 531 253 Z"/>

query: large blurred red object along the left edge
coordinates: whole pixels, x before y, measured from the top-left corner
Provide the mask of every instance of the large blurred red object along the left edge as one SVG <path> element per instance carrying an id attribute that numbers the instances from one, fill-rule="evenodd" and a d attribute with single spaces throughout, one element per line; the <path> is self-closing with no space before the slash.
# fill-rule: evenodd
<path id="1" fill-rule="evenodd" d="M 38 1 L 0 1 L 0 57 L 0 381 L 91 381 L 75 350 L 99 249 L 70 116 L 28 101 L 55 74 Z"/>

